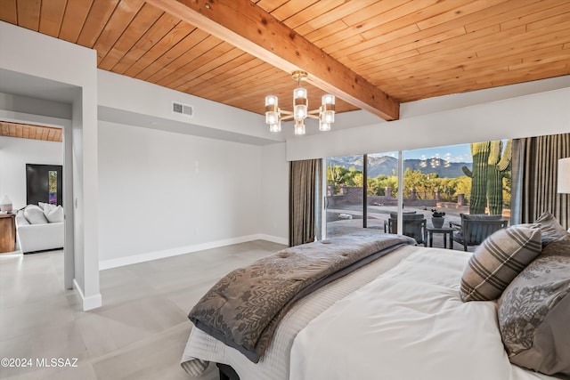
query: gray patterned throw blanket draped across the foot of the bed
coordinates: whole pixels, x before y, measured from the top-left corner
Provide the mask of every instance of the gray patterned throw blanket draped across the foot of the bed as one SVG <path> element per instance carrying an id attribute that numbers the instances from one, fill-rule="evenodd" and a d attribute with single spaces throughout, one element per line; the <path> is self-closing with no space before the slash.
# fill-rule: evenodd
<path id="1" fill-rule="evenodd" d="M 257 362 L 297 299 L 397 247 L 415 244 L 405 236 L 362 232 L 286 248 L 226 275 L 188 318 Z"/>

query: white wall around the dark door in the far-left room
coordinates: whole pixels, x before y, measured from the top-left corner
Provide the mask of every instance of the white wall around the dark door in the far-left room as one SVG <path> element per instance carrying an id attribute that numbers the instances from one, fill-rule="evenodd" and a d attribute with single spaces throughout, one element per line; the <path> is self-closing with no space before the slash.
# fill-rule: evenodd
<path id="1" fill-rule="evenodd" d="M 26 164 L 63 165 L 63 144 L 0 136 L 0 198 L 26 206 Z"/>

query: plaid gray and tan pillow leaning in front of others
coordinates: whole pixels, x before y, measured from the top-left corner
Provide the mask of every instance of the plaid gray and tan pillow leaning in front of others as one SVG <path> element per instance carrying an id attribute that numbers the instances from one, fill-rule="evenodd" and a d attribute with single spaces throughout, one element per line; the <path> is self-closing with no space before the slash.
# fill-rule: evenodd
<path id="1" fill-rule="evenodd" d="M 492 301 L 541 253 L 538 226 L 501 229 L 485 239 L 469 258 L 461 276 L 463 302 Z"/>

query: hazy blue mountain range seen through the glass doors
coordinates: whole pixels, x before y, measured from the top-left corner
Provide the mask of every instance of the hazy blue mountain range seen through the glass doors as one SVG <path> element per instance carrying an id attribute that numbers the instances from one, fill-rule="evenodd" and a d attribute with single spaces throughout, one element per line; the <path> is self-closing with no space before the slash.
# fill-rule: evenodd
<path id="1" fill-rule="evenodd" d="M 344 156 L 336 158 L 328 158 L 327 166 L 343 166 L 346 169 L 354 167 L 356 170 L 362 171 L 364 158 L 360 155 Z M 461 167 L 467 166 L 469 170 L 473 167 L 470 162 L 449 162 L 442 158 L 422 159 L 404 159 L 403 169 L 410 167 L 411 170 L 419 170 L 423 174 L 436 173 L 440 178 L 455 178 L 463 174 Z M 369 156 L 368 157 L 368 176 L 370 178 L 377 177 L 381 174 L 395 175 L 398 171 L 398 159 L 390 156 Z"/>

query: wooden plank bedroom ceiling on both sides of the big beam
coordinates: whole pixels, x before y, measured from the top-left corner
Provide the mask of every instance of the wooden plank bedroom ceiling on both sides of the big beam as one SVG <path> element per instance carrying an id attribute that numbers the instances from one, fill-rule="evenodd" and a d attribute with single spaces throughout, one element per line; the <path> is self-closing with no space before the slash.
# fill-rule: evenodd
<path id="1" fill-rule="evenodd" d="M 245 53 L 243 45 L 228 42 L 232 39 L 195 28 L 184 16 L 191 11 L 172 12 L 164 5 L 190 9 L 198 4 L 199 11 L 192 12 L 207 13 L 206 8 L 221 10 L 237 6 L 232 4 L 236 1 L 2 0 L 0 20 L 93 48 L 100 69 L 259 114 L 265 112 L 265 95 L 273 93 L 280 97 L 281 108 L 290 109 L 295 83 L 290 72 L 281 69 L 285 66 L 257 58 L 263 54 Z M 255 7 L 267 18 L 244 17 L 238 26 L 248 25 L 245 33 L 261 33 L 273 17 L 280 28 L 291 30 L 289 39 L 300 36 L 300 53 L 318 49 L 323 60 L 338 62 L 344 72 L 362 78 L 362 84 L 377 88 L 396 105 L 570 74 L 570 0 L 246 3 L 243 16 Z M 318 67 L 322 62 L 305 63 Z M 343 85 L 343 79 L 331 77 L 332 88 Z M 318 81 L 306 85 L 310 109 L 318 107 L 324 93 L 315 85 L 327 87 Z M 359 93 L 359 83 L 349 85 L 353 92 L 339 96 L 338 112 L 362 108 L 363 103 L 351 98 Z M 387 113 L 380 109 L 377 114 L 381 112 Z"/>

